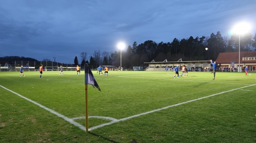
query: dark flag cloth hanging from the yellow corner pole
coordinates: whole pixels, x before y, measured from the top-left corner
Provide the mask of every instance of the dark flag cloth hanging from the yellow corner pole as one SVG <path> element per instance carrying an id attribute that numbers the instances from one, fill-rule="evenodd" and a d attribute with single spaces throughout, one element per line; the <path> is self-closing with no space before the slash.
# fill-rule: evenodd
<path id="1" fill-rule="evenodd" d="M 90 70 L 88 64 L 85 64 L 84 67 L 85 67 L 85 70 L 84 70 L 84 72 L 85 72 L 85 77 L 84 77 L 85 84 L 91 84 L 94 88 L 97 88 L 97 89 L 99 89 L 99 91 L 101 91 L 100 88 L 99 88 L 98 83 L 96 82 L 95 78 L 93 77 L 93 73 Z"/>

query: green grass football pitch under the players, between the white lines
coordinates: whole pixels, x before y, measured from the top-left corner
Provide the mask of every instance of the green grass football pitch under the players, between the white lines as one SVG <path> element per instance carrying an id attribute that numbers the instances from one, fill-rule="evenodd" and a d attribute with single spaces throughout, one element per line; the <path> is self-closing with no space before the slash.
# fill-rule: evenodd
<path id="1" fill-rule="evenodd" d="M 64 75 L 48 71 L 41 79 L 39 72 L 24 74 L 0 72 L 0 85 L 66 117 L 85 116 L 84 71 L 79 76 L 75 71 L 64 71 Z M 189 77 L 180 78 L 173 78 L 174 72 L 93 74 L 102 92 L 88 85 L 89 116 L 122 119 L 217 95 L 85 132 L 0 87 L 0 142 L 256 142 L 256 73 L 216 72 L 215 80 L 210 72 L 189 72 Z M 75 121 L 85 126 L 85 119 Z M 89 118 L 89 128 L 110 121 Z"/>

